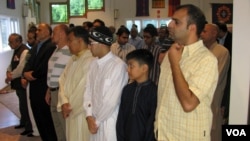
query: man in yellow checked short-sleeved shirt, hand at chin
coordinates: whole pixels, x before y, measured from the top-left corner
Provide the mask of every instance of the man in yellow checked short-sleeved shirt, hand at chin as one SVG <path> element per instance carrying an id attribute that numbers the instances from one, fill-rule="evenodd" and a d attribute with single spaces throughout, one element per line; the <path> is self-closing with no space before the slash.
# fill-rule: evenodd
<path id="1" fill-rule="evenodd" d="M 205 23 L 203 12 L 187 4 L 177 8 L 168 26 L 175 43 L 161 64 L 154 126 L 157 140 L 211 140 L 218 64 L 200 40 Z"/>

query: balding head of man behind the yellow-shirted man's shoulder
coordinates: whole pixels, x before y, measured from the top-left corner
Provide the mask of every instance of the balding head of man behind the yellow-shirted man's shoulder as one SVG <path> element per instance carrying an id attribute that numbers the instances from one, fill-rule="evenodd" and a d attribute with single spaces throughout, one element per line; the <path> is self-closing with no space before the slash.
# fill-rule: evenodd
<path id="1" fill-rule="evenodd" d="M 216 38 L 218 35 L 218 27 L 215 24 L 206 24 L 203 31 L 201 32 L 201 39 L 206 47 L 210 48 L 210 46 L 216 42 Z"/>

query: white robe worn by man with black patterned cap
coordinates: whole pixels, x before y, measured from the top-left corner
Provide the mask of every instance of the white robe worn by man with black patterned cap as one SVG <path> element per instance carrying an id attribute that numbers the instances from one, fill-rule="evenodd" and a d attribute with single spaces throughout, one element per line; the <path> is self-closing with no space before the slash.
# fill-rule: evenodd
<path id="1" fill-rule="evenodd" d="M 86 117 L 93 116 L 98 126 L 90 141 L 116 141 L 116 119 L 123 87 L 128 82 L 127 65 L 109 52 L 94 60 L 89 69 L 84 95 Z"/>

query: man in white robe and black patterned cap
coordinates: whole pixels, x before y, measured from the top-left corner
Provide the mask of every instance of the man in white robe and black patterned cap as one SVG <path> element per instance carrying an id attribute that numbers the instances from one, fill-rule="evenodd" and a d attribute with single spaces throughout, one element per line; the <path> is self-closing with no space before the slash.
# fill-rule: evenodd
<path id="1" fill-rule="evenodd" d="M 91 63 L 84 94 L 90 141 L 116 141 L 121 92 L 128 82 L 127 65 L 110 51 L 112 33 L 105 27 L 90 32 Z"/>

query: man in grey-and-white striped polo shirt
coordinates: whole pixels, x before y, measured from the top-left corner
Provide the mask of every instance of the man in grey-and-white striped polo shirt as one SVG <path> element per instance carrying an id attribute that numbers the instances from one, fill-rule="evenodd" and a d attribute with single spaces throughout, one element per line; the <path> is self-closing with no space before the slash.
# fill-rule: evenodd
<path id="1" fill-rule="evenodd" d="M 66 141 L 65 120 L 62 116 L 62 113 L 57 111 L 57 103 L 59 77 L 71 57 L 67 45 L 68 30 L 69 27 L 65 24 L 59 24 L 53 29 L 52 42 L 56 44 L 57 48 L 48 62 L 47 85 L 49 88 L 47 89 L 45 99 L 46 102 L 50 105 L 50 111 L 58 141 Z"/>

